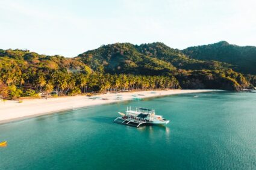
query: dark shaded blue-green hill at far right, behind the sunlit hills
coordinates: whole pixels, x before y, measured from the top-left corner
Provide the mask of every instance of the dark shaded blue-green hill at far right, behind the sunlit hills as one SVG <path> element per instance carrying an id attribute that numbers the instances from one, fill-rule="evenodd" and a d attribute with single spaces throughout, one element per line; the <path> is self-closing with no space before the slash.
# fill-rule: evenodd
<path id="1" fill-rule="evenodd" d="M 182 50 L 192 59 L 214 60 L 232 64 L 235 71 L 245 74 L 256 74 L 256 47 L 236 46 L 226 41 L 204 46 L 188 47 Z"/>

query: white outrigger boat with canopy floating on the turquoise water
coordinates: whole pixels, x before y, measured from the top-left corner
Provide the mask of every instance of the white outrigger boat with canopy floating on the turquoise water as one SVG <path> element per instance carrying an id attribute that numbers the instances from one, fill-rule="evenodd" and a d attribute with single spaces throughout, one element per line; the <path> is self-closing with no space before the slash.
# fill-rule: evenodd
<path id="1" fill-rule="evenodd" d="M 122 117 L 117 117 L 114 123 L 139 127 L 142 124 L 167 124 L 170 122 L 165 120 L 163 116 L 155 115 L 155 111 L 151 109 L 136 108 L 133 110 L 131 107 L 127 107 L 126 114 L 118 113 Z"/>

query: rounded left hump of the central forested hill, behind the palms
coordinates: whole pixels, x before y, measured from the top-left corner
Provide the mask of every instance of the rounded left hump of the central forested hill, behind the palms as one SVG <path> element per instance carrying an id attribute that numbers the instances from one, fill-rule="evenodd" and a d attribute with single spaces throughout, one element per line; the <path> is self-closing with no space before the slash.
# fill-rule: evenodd
<path id="1" fill-rule="evenodd" d="M 111 74 L 162 75 L 175 70 L 170 62 L 140 53 L 130 43 L 108 44 L 82 53 L 77 58 L 95 71 Z"/>

